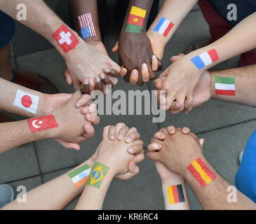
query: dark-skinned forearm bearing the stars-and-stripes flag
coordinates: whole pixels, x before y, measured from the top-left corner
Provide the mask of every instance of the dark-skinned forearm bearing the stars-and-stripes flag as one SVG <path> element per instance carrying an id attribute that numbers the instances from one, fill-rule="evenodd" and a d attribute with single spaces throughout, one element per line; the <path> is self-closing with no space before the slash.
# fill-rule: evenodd
<path id="1" fill-rule="evenodd" d="M 79 36 L 87 43 L 101 41 L 97 0 L 69 0 L 69 6 Z"/>

